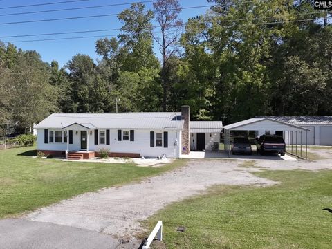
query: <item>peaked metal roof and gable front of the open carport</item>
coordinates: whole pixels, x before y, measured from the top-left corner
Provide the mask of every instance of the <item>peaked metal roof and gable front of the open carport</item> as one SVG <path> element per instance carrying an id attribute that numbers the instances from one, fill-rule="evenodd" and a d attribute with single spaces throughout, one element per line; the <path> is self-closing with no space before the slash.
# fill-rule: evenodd
<path id="1" fill-rule="evenodd" d="M 234 124 L 223 127 L 228 131 L 257 131 L 259 129 L 275 131 L 310 131 L 304 127 L 295 124 L 288 124 L 272 118 L 250 118 Z"/>

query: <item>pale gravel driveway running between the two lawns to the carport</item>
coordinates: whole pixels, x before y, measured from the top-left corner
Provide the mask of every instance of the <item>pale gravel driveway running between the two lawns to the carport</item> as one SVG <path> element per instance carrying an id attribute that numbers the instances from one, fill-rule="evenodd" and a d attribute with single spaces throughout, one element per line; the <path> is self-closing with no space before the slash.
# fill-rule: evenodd
<path id="1" fill-rule="evenodd" d="M 320 151 L 331 158 L 331 152 Z M 73 199 L 41 208 L 27 214 L 24 219 L 49 222 L 83 228 L 113 238 L 131 238 L 141 232 L 140 221 L 147 219 L 169 203 L 181 201 L 206 190 L 211 185 L 257 185 L 277 184 L 250 172 L 260 170 L 243 163 L 246 160 L 190 160 L 186 167 L 147 178 L 141 183 L 111 187 L 99 192 L 82 194 Z M 332 160 L 318 162 L 256 160 L 255 166 L 266 169 L 332 169 Z M 137 244 L 136 244 L 137 245 Z M 125 247 L 124 247 L 125 248 Z"/>

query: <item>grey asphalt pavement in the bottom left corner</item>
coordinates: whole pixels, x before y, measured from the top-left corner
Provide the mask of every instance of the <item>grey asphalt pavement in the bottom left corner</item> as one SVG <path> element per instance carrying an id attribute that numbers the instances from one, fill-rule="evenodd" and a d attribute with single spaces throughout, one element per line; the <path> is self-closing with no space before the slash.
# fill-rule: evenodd
<path id="1" fill-rule="evenodd" d="M 117 239 L 91 230 L 25 219 L 0 220 L 1 249 L 111 249 L 119 244 Z"/>

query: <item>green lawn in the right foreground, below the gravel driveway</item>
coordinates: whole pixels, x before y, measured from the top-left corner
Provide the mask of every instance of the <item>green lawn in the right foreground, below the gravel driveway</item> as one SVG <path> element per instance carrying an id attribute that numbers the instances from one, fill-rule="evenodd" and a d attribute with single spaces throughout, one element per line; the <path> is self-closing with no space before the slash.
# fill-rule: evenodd
<path id="1" fill-rule="evenodd" d="M 145 225 L 163 221 L 166 248 L 331 248 L 332 214 L 322 210 L 332 208 L 331 171 L 257 175 L 281 184 L 214 187 L 169 205 Z"/>

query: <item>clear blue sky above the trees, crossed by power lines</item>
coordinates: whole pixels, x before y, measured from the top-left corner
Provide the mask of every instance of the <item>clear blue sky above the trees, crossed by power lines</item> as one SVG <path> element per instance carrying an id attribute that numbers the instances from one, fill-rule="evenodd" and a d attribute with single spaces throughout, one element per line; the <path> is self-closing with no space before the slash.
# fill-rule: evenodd
<path id="1" fill-rule="evenodd" d="M 70 3 L 59 3 L 64 1 L 71 1 Z M 147 1 L 147 0 L 0 0 L 0 40 L 3 42 L 12 42 L 23 50 L 36 50 L 45 62 L 52 62 L 56 60 L 59 66 L 65 65 L 77 53 L 90 55 L 93 59 L 98 59 L 95 53 L 95 41 L 99 38 L 109 35 L 118 35 L 118 30 L 113 31 L 99 31 L 95 33 L 76 33 L 66 35 L 43 35 L 30 37 L 8 37 L 15 35 L 35 35 L 45 33 L 64 33 L 77 32 L 85 30 L 105 30 L 121 28 L 122 24 L 116 17 L 116 14 L 130 7 L 131 2 Z M 190 17 L 196 17 L 203 14 L 209 7 L 189 8 L 194 6 L 208 6 L 208 0 L 179 0 L 181 6 L 184 8 L 179 15 L 183 21 L 187 21 Z M 8 8 L 13 6 L 27 6 L 44 3 L 44 6 L 28 6 L 20 8 Z M 88 6 L 103 6 L 112 4 L 129 3 L 121 6 L 108 6 L 102 8 L 88 8 L 80 10 L 64 10 L 57 12 L 39 12 L 44 10 L 59 10 L 68 8 L 82 8 Z M 147 9 L 152 9 L 152 3 L 145 3 Z M 38 12 L 23 14 L 24 12 Z M 19 13 L 19 15 L 8 15 Z M 13 24 L 20 21 L 32 21 L 42 19 L 57 19 L 66 17 L 83 17 L 91 15 L 110 15 L 107 17 L 82 18 L 82 19 L 67 19 L 59 21 L 40 21 L 40 22 L 25 22 L 21 24 Z M 10 24 L 8 24 L 10 23 Z M 154 24 L 155 25 L 155 24 Z M 157 33 L 158 35 L 158 33 Z M 39 41 L 39 42 L 19 42 L 35 39 L 57 39 L 68 37 L 83 37 L 83 36 L 100 36 L 90 37 L 84 39 L 63 39 L 53 41 Z M 16 42 L 15 42 L 16 41 Z M 154 51 L 159 57 L 158 46 L 155 45 Z"/>

